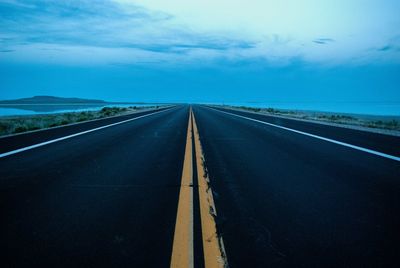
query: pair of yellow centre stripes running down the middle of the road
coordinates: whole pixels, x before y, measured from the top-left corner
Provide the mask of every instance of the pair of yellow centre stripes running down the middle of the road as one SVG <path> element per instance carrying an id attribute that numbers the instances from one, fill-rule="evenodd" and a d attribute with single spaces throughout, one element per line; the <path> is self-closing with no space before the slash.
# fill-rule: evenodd
<path id="1" fill-rule="evenodd" d="M 195 148 L 192 148 L 193 140 Z M 193 151 L 195 155 L 193 155 Z M 193 157 L 195 161 L 193 161 Z M 195 163 L 197 169 L 197 187 L 193 187 L 195 186 L 193 185 L 193 163 Z M 193 189 L 196 188 L 199 190 L 204 266 L 206 268 L 226 267 L 227 261 L 223 241 L 217 234 L 215 223 L 217 212 L 212 190 L 205 172 L 196 120 L 192 109 L 190 109 L 171 267 L 193 267 Z"/>

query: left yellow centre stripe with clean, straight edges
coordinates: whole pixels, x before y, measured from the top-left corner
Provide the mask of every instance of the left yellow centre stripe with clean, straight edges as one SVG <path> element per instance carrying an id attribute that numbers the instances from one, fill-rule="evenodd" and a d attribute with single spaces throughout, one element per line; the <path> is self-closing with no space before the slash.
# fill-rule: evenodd
<path id="1" fill-rule="evenodd" d="M 170 267 L 193 267 L 193 162 L 192 117 L 189 114 L 185 157 Z"/>

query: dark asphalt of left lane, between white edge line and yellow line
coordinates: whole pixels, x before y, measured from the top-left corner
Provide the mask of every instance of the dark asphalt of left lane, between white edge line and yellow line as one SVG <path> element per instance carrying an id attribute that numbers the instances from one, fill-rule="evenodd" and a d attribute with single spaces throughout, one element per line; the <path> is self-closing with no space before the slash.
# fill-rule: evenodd
<path id="1" fill-rule="evenodd" d="M 188 112 L 0 159 L 2 267 L 167 267 Z"/>

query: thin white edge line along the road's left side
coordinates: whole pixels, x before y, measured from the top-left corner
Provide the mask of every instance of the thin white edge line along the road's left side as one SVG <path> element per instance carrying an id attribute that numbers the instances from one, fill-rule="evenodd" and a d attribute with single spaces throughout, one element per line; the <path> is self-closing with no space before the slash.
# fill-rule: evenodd
<path id="1" fill-rule="evenodd" d="M 38 143 L 38 144 L 30 145 L 30 146 L 27 146 L 27 147 L 23 147 L 23 148 L 20 148 L 20 149 L 16 149 L 16 150 L 13 150 L 13 151 L 9 151 L 9 152 L 6 152 L 6 153 L 2 153 L 2 154 L 0 154 L 0 158 L 6 157 L 6 156 L 9 156 L 9 155 L 13 155 L 13 154 L 17 154 L 17 153 L 21 153 L 21 152 L 24 152 L 24 151 L 27 151 L 27 150 L 31 150 L 31 149 L 34 149 L 34 148 L 42 147 L 42 146 L 45 146 L 45 145 L 48 145 L 48 144 L 51 144 L 51 143 L 55 143 L 55 142 L 58 142 L 58 141 L 63 141 L 63 140 L 66 140 L 66 139 L 70 139 L 70 138 L 73 138 L 73 137 L 76 137 L 76 136 L 80 136 L 80 135 L 83 135 L 83 134 L 86 134 L 86 133 L 94 132 L 94 131 L 97 131 L 97 130 L 100 130 L 100 129 L 104 129 L 104 128 L 120 125 L 120 124 L 123 124 L 123 123 L 127 123 L 129 121 L 137 120 L 137 119 L 140 119 L 140 118 L 143 118 L 143 117 L 147 117 L 147 116 L 155 115 L 155 114 L 158 114 L 158 113 L 166 112 L 166 111 L 169 111 L 171 109 L 173 109 L 173 108 L 169 108 L 169 109 L 166 109 L 166 110 L 162 110 L 162 111 L 154 112 L 154 113 L 150 113 L 150 114 L 141 115 L 141 116 L 138 116 L 138 117 L 135 117 L 135 118 L 123 120 L 123 121 L 120 121 L 120 122 L 116 122 L 116 123 L 112 123 L 112 124 L 109 124 L 109 125 L 105 125 L 105 126 L 101 126 L 101 127 L 85 130 L 85 131 L 82 131 L 82 132 L 74 133 L 74 134 L 71 134 L 71 135 L 68 135 L 68 136 L 64 136 L 64 137 L 61 137 L 61 138 L 57 138 L 57 139 L 54 139 L 54 140 L 49 140 L 49 141 L 41 142 L 41 143 Z"/>

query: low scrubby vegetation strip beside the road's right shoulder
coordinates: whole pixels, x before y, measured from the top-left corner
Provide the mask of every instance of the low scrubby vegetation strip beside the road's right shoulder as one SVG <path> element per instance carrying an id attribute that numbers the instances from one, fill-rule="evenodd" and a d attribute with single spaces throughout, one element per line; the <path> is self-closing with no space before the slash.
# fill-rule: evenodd
<path id="1" fill-rule="evenodd" d="M 336 123 L 343 125 L 351 125 L 351 126 L 361 126 L 367 128 L 375 128 L 375 129 L 385 129 L 385 130 L 394 130 L 400 131 L 400 121 L 396 119 L 382 119 L 374 120 L 365 116 L 357 116 L 357 115 L 347 115 L 347 114 L 332 114 L 332 113 L 324 113 L 324 112 L 306 112 L 306 111 L 291 111 L 291 110 L 283 110 L 283 109 L 274 109 L 274 108 L 254 108 L 254 107 L 246 107 L 246 106 L 230 106 L 231 108 L 256 112 L 256 113 L 265 113 L 270 115 L 278 115 L 278 116 L 288 116 L 298 119 L 306 119 L 306 120 L 314 120 L 321 121 L 326 123 Z M 378 118 L 378 117 L 375 117 Z"/>

